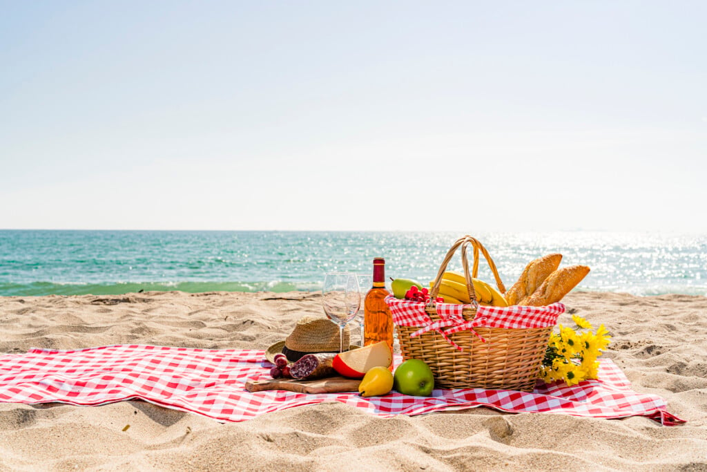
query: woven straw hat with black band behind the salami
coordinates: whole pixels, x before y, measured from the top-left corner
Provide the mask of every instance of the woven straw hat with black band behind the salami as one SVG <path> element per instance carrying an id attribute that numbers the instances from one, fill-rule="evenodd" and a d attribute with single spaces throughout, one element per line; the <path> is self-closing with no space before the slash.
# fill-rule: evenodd
<path id="1" fill-rule="evenodd" d="M 350 350 L 349 326 L 344 328 L 344 347 Z M 295 362 L 305 354 L 313 352 L 339 352 L 339 326 L 327 318 L 303 316 L 297 322 L 292 333 L 284 340 L 275 343 L 265 351 L 265 358 L 274 362 L 275 355 L 282 352 L 290 362 Z"/>

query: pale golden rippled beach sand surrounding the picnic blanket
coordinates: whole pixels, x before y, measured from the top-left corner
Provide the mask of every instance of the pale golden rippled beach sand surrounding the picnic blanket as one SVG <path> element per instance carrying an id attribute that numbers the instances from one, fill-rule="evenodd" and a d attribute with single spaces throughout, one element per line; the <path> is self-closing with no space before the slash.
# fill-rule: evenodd
<path id="1" fill-rule="evenodd" d="M 487 408 L 376 418 L 339 403 L 221 424 L 142 401 L 0 403 L 0 471 L 707 470 L 707 298 L 569 294 L 613 335 L 605 354 L 633 389 L 687 420 L 506 414 Z M 305 313 L 304 292 L 148 292 L 0 298 L 0 352 L 139 343 L 264 349 Z M 124 427 L 129 425 L 127 430 Z"/>

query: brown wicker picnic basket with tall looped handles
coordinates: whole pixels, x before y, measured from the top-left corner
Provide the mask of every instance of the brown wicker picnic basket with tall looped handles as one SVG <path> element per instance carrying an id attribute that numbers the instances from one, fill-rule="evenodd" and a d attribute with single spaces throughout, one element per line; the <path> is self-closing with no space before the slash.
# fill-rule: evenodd
<path id="1" fill-rule="evenodd" d="M 472 272 L 469 272 L 467 246 L 472 246 L 474 250 Z M 478 304 L 471 278 L 477 277 L 479 253 L 484 255 L 489 263 L 501 294 L 506 292 L 506 287 L 503 286 L 496 265 L 486 248 L 476 238 L 464 236 L 454 243 L 445 256 L 430 292 L 431 300 L 436 299 L 442 275 L 455 251 L 460 247 L 469 299 L 472 300 L 472 304 L 464 305 L 462 315 L 464 320 L 472 321 L 477 314 Z M 425 311 L 433 322 L 440 320 L 435 304 L 428 304 Z M 450 335 L 450 340 L 463 350 L 450 345 L 440 333 L 434 330 L 411 338 L 410 335 L 419 330 L 419 327 L 396 326 L 396 329 L 403 359 L 421 359 L 426 362 L 435 376 L 436 387 L 532 391 L 553 327 L 474 328 L 474 331 L 486 342 L 469 330 Z"/>

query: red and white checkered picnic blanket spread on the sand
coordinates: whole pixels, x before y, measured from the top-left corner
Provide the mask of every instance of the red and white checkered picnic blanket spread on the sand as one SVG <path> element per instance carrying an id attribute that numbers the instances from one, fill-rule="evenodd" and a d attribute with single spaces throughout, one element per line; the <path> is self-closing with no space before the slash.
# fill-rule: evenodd
<path id="1" fill-rule="evenodd" d="M 396 362 L 401 362 L 396 356 Z M 631 391 L 626 376 L 602 360 L 600 380 L 539 386 L 532 393 L 464 388 L 436 389 L 430 397 L 391 392 L 293 393 L 245 390 L 247 380 L 269 379 L 262 350 L 206 350 L 116 345 L 83 350 L 33 349 L 0 356 L 0 401 L 104 405 L 141 399 L 220 421 L 243 421 L 285 408 L 338 401 L 372 415 L 420 415 L 486 406 L 520 413 L 566 413 L 595 418 L 646 416 L 662 425 L 684 422 L 667 413 L 659 396 Z"/>

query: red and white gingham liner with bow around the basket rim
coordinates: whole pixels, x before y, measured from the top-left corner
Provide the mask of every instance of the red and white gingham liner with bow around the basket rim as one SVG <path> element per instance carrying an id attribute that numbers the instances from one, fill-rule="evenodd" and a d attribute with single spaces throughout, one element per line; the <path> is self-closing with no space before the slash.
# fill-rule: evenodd
<path id="1" fill-rule="evenodd" d="M 485 343 L 486 340 L 481 338 L 474 331 L 474 328 L 547 328 L 548 326 L 555 326 L 557 318 L 565 312 L 565 306 L 561 303 L 554 303 L 548 306 L 479 305 L 474 319 L 466 321 L 464 316 L 462 316 L 462 309 L 468 305 L 438 303 L 435 306 L 440 319 L 432 321 L 432 318 L 425 311 L 425 304 L 421 301 L 402 300 L 388 295 L 385 297 L 385 302 L 390 307 L 393 323 L 398 326 L 420 327 L 419 330 L 410 335 L 411 338 L 434 330 L 440 333 L 450 345 L 460 351 L 464 349 L 452 341 L 449 335 L 469 330 Z"/>

